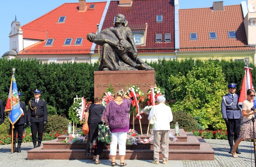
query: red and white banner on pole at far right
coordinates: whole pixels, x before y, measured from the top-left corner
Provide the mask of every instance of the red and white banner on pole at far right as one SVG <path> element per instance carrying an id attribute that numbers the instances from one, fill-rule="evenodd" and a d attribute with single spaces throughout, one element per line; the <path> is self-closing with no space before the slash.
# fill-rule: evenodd
<path id="1" fill-rule="evenodd" d="M 245 74 L 244 74 L 244 79 L 243 79 L 243 83 L 242 83 L 242 87 L 241 87 L 241 91 L 240 91 L 240 97 L 239 97 L 239 101 L 238 101 L 238 106 L 240 109 L 242 109 L 242 104 L 244 102 L 244 100 L 246 99 L 246 91 L 248 89 L 254 89 L 253 85 L 252 85 L 252 75 L 251 75 L 251 71 L 253 70 L 252 68 L 249 67 L 244 67 L 245 69 Z"/>

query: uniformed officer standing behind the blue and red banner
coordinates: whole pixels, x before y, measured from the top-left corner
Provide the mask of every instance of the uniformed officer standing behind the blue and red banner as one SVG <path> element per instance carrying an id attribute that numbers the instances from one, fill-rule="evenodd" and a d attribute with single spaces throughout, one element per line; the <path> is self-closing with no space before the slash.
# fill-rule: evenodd
<path id="1" fill-rule="evenodd" d="M 14 128 L 13 128 L 13 153 L 16 151 L 17 153 L 20 153 L 20 146 L 22 143 L 22 136 L 23 136 L 23 130 L 27 127 L 27 109 L 26 104 L 22 101 L 20 101 L 21 93 L 18 93 L 19 96 L 19 104 L 20 108 L 23 110 L 23 115 L 20 116 L 20 118 L 15 122 Z M 12 124 L 10 123 L 10 129 L 12 128 Z M 16 134 L 18 131 L 18 145 L 16 149 Z"/>

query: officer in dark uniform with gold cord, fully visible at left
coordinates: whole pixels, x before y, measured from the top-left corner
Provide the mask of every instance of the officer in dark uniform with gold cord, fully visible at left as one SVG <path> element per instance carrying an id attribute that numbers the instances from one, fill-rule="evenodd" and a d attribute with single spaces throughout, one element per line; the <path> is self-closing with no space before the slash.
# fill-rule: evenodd
<path id="1" fill-rule="evenodd" d="M 27 110 L 27 123 L 31 126 L 32 142 L 34 148 L 40 147 L 42 142 L 42 133 L 44 125 L 47 124 L 47 106 L 45 100 L 40 99 L 41 91 L 36 89 L 34 91 L 34 100 L 30 100 Z M 36 131 L 38 137 L 36 138 Z M 36 146 L 36 140 L 38 144 Z"/>

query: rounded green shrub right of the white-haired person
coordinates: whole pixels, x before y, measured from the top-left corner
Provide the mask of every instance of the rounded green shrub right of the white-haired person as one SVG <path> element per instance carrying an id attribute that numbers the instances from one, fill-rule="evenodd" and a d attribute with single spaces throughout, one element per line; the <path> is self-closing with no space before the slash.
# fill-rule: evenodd
<path id="1" fill-rule="evenodd" d="M 198 123 L 192 117 L 191 114 L 182 110 L 178 110 L 178 111 L 172 112 L 172 115 L 173 115 L 173 120 L 170 123 L 171 128 L 174 128 L 175 122 L 178 122 L 180 129 L 187 129 L 190 132 L 194 129 L 198 129 Z"/>

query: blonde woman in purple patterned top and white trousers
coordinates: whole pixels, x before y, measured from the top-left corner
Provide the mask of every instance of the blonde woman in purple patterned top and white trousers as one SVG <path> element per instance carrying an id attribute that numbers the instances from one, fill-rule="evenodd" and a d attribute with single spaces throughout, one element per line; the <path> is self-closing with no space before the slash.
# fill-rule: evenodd
<path id="1" fill-rule="evenodd" d="M 110 143 L 111 165 L 115 166 L 115 156 L 117 144 L 119 146 L 120 166 L 125 166 L 124 162 L 126 150 L 126 135 L 129 131 L 129 111 L 132 100 L 124 94 L 123 89 L 118 90 L 115 94 L 115 100 L 108 102 L 102 118 L 108 123 L 112 133 L 112 141 Z"/>

